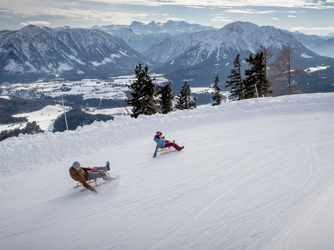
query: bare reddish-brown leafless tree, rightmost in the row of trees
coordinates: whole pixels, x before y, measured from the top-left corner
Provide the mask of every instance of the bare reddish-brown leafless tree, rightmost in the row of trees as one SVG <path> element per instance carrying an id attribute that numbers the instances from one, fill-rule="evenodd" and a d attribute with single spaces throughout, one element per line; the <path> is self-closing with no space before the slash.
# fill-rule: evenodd
<path id="1" fill-rule="evenodd" d="M 269 79 L 275 83 L 277 91 L 289 92 L 292 95 L 292 85 L 300 77 L 305 75 L 305 71 L 298 67 L 291 54 L 291 44 L 283 45 L 280 53 L 276 56 L 275 62 L 269 65 Z"/>

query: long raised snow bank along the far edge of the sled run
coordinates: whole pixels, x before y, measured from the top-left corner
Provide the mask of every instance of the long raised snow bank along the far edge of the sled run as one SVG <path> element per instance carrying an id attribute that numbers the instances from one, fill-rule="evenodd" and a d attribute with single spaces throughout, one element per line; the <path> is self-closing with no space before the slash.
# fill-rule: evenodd
<path id="1" fill-rule="evenodd" d="M 66 156 L 89 153 L 113 144 L 122 144 L 132 137 L 150 137 L 156 131 L 189 129 L 249 116 L 278 113 L 296 113 L 334 108 L 334 93 L 302 94 L 280 97 L 263 97 L 205 106 L 195 110 L 177 110 L 167 115 L 140 115 L 137 119 L 117 116 L 115 120 L 94 122 L 75 131 L 11 137 L 0 143 L 0 169 L 24 165 L 31 156 L 38 163 L 54 161 Z"/>

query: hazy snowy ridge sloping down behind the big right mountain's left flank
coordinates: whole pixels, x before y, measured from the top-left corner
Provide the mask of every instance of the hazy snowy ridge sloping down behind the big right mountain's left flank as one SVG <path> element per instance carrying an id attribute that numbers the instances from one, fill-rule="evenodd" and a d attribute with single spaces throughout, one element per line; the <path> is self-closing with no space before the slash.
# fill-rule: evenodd
<path id="1" fill-rule="evenodd" d="M 173 36 L 159 44 L 153 45 L 142 54 L 152 61 L 165 63 L 186 52 L 215 32 L 216 30 L 205 30 Z"/>

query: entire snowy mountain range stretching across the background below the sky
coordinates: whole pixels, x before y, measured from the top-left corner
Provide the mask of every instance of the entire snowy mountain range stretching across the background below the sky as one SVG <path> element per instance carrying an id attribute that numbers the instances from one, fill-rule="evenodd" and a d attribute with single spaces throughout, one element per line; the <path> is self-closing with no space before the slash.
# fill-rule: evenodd
<path id="1" fill-rule="evenodd" d="M 319 42 L 326 39 L 241 21 L 219 30 L 184 21 L 133 22 L 129 26 L 111 24 L 90 29 L 28 25 L 19 31 L 0 31 L 0 77 L 2 82 L 98 78 L 133 73 L 135 65 L 142 62 L 160 74 L 167 73 L 167 66 L 176 83 L 174 88 L 180 88 L 184 80 L 192 80 L 192 87 L 203 87 L 210 85 L 217 74 L 225 81 L 237 53 L 247 57 L 262 44 L 274 52 L 274 60 L 280 48 L 290 43 L 303 69 L 326 66 L 321 72 L 309 73 L 317 81 L 334 76 L 334 61 L 328 57 L 331 39 L 326 46 L 311 46 Z M 325 51 L 322 55 L 326 57 L 305 46 L 318 53 Z M 243 62 L 242 66 L 247 64 Z"/>

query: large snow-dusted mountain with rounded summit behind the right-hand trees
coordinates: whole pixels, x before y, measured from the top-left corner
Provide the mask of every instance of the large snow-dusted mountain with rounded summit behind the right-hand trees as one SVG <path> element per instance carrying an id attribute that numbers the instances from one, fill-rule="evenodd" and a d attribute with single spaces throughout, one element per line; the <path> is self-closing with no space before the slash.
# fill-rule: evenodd
<path id="1" fill-rule="evenodd" d="M 182 36 L 185 35 L 179 37 Z M 328 66 L 333 65 L 332 58 L 321 57 L 307 49 L 291 33 L 273 26 L 259 27 L 253 23 L 238 21 L 225 25 L 155 71 L 163 73 L 167 66 L 170 72 L 173 72 L 171 76 L 174 79 L 192 79 L 193 86 L 200 86 L 201 83 L 208 82 L 207 78 L 213 81 L 217 74 L 225 81 L 238 53 L 240 58 L 248 57 L 249 53 L 256 53 L 259 45 L 262 44 L 273 51 L 274 55 L 271 58 L 273 60 L 282 46 L 288 43 L 292 45 L 292 54 L 300 67 L 308 68 L 312 65 L 315 67 L 324 62 Z M 164 47 L 160 49 L 162 51 L 168 50 L 168 48 L 172 50 L 172 46 L 172 43 L 164 44 Z M 152 56 L 155 56 L 155 50 L 156 48 L 151 47 L 145 51 L 145 54 L 153 60 Z M 165 51 L 164 54 L 168 55 Z M 242 62 L 242 67 L 247 67 L 245 61 Z M 178 82 L 177 84 L 182 83 Z"/>

